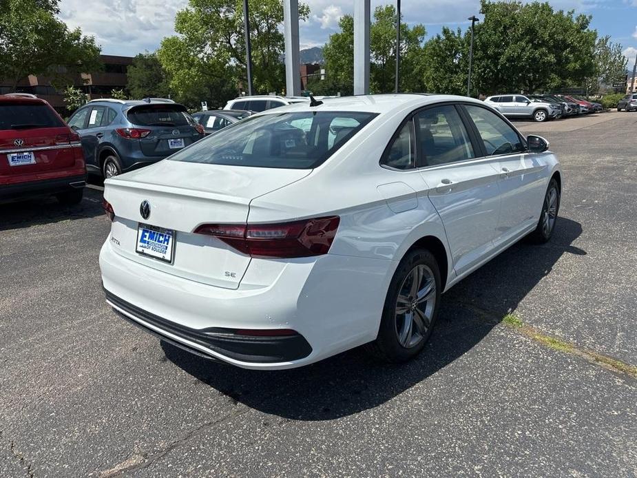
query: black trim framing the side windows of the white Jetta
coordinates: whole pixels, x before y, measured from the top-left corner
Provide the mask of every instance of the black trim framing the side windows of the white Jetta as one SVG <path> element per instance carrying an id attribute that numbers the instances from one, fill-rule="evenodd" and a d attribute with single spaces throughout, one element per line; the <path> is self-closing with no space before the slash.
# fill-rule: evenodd
<path id="1" fill-rule="evenodd" d="M 474 148 L 474 153 L 475 154 L 480 154 L 480 156 L 476 156 L 475 158 L 469 158 L 469 159 L 464 159 L 461 161 L 451 161 L 450 163 L 443 163 L 441 165 L 421 165 L 421 160 L 420 157 L 421 155 L 419 154 L 419 141 L 417 141 L 416 138 L 416 131 L 417 128 L 415 127 L 415 123 L 414 123 L 414 116 L 423 111 L 423 110 L 427 110 L 428 108 L 431 107 L 437 107 L 437 106 L 442 106 L 442 105 L 453 105 L 456 107 L 456 110 L 459 110 L 459 114 L 460 114 L 460 118 L 465 126 L 465 129 L 467 130 L 467 133 L 469 135 L 469 139 L 471 141 L 471 144 Z M 489 112 L 494 113 L 496 116 L 498 116 L 501 120 L 503 120 L 507 125 L 509 125 L 513 131 L 515 132 L 515 134 L 517 134 L 518 138 L 520 139 L 520 142 L 524 145 L 525 150 L 521 151 L 521 152 L 514 152 L 514 153 L 503 153 L 503 154 L 492 154 L 492 155 L 488 155 L 486 154 L 486 149 L 484 147 L 484 143 L 482 141 L 482 138 L 480 136 L 480 133 L 475 125 L 475 123 L 473 122 L 473 120 L 471 119 L 471 117 L 469 116 L 468 112 L 466 111 L 466 109 L 463 107 L 465 105 L 469 105 L 469 106 L 476 106 L 479 108 L 483 108 L 484 110 L 488 110 Z M 395 139 L 397 138 L 398 134 L 400 133 L 401 129 L 403 129 L 404 125 L 408 122 L 411 121 L 411 132 L 413 134 L 413 138 L 415 140 L 415 147 L 417 148 L 416 151 L 416 167 L 410 168 L 410 169 L 398 169 L 395 167 L 391 167 L 388 165 L 383 164 L 383 161 L 386 159 L 387 154 L 389 154 L 389 149 L 391 147 L 391 145 L 393 145 Z M 475 144 L 477 143 L 477 145 Z M 466 164 L 466 163 L 470 163 L 475 161 L 477 162 L 483 162 L 483 161 L 490 161 L 490 160 L 494 160 L 494 159 L 498 159 L 498 158 L 502 158 L 503 156 L 511 156 L 512 154 L 525 154 L 525 153 L 529 153 L 528 150 L 528 143 L 526 141 L 526 138 L 518 131 L 518 129 L 516 127 L 514 127 L 514 125 L 512 125 L 512 123 L 508 120 L 508 118 L 506 118 L 505 116 L 503 116 L 503 114 L 501 114 L 499 111 L 495 110 L 492 107 L 488 107 L 487 105 L 481 105 L 479 103 L 473 103 L 472 101 L 440 101 L 439 103 L 433 103 L 431 105 L 425 105 L 425 106 L 421 106 L 419 108 L 417 108 L 416 110 L 413 110 L 412 112 L 410 112 L 404 119 L 403 121 L 401 121 L 400 125 L 397 127 L 396 131 L 394 132 L 394 134 L 392 135 L 392 137 L 390 138 L 390 141 L 388 141 L 387 145 L 385 146 L 385 149 L 383 150 L 383 154 L 380 157 L 380 160 L 378 162 L 379 166 L 382 167 L 383 169 L 387 169 L 388 171 L 393 171 L 393 172 L 398 172 L 398 173 L 410 173 L 410 172 L 415 172 L 415 171 L 426 171 L 427 169 L 433 169 L 433 168 L 441 168 L 441 167 L 449 167 L 449 166 L 455 166 L 455 165 L 462 165 L 462 164 Z"/>

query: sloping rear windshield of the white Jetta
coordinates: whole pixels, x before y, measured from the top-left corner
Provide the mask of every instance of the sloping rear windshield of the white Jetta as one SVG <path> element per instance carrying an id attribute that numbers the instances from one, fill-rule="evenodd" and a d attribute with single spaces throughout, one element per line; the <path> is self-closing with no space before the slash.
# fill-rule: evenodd
<path id="1" fill-rule="evenodd" d="M 252 116 L 171 156 L 212 165 L 311 169 L 377 114 L 300 112 Z"/>

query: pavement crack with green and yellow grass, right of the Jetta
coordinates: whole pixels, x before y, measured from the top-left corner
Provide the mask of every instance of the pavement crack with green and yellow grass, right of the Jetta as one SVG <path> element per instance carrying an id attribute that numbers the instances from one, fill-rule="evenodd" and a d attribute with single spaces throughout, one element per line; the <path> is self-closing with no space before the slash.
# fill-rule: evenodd
<path id="1" fill-rule="evenodd" d="M 528 337 L 534 342 L 539 343 L 547 348 L 561 351 L 563 353 L 570 353 L 571 355 L 576 355 L 577 357 L 581 357 L 584 360 L 587 360 L 587 362 L 602 366 L 609 371 L 620 373 L 623 375 L 629 375 L 630 377 L 637 379 L 637 366 L 629 364 L 627 362 L 623 362 L 622 360 L 616 359 L 615 357 L 611 357 L 610 355 L 605 355 L 594 350 L 582 349 L 574 342 L 569 342 L 562 337 L 545 333 L 543 331 L 540 331 L 539 329 L 525 324 L 517 315 L 513 313 L 508 313 L 504 315 L 504 317 L 500 317 L 492 311 L 481 309 L 480 307 L 477 307 L 474 304 L 470 304 L 468 302 L 459 301 L 457 302 L 457 304 L 464 309 L 471 311 L 481 320 L 488 322 L 489 324 L 505 326 L 508 329 L 516 331 L 517 333 L 524 335 L 525 337 Z"/>

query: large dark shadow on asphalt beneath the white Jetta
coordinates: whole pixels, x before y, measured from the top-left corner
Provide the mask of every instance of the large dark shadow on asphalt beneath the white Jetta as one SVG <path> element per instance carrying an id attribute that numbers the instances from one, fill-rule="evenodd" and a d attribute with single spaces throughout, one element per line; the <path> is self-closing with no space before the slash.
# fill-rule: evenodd
<path id="1" fill-rule="evenodd" d="M 585 254 L 572 245 L 581 231 L 578 222 L 559 218 L 548 244 L 519 242 L 459 282 L 443 296 L 438 322 L 424 351 L 406 364 L 377 362 L 359 347 L 302 368 L 251 371 L 205 360 L 167 342 L 161 346 L 171 362 L 231 404 L 291 420 L 345 417 L 388 402 L 470 354 L 561 256 Z M 477 313 L 477 308 L 484 312 Z M 430 386 L 439 385 L 432 380 Z"/>

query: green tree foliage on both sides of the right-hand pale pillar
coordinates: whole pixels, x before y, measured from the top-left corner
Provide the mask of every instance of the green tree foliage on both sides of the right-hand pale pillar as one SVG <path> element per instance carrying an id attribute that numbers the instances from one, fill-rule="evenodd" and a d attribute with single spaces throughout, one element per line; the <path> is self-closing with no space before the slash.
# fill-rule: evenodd
<path id="1" fill-rule="evenodd" d="M 394 6 L 378 6 L 370 25 L 370 90 L 392 92 L 395 86 L 396 68 L 396 10 Z M 323 48 L 326 79 L 321 85 L 313 81 L 311 90 L 320 94 L 351 94 L 354 83 L 354 20 L 351 15 L 340 19 L 340 32 L 330 35 Z M 419 74 L 422 43 L 425 37 L 423 25 L 400 25 L 401 91 L 421 91 Z"/>

